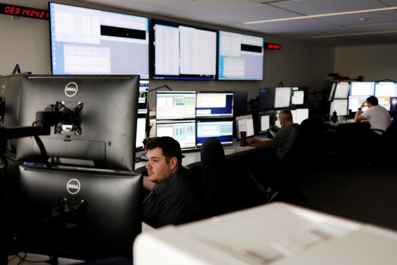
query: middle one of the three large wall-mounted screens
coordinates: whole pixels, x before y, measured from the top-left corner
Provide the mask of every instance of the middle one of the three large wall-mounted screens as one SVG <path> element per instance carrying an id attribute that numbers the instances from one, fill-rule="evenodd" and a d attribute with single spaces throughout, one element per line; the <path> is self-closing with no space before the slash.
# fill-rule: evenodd
<path id="1" fill-rule="evenodd" d="M 216 79 L 216 30 L 152 19 L 153 79 Z"/>

